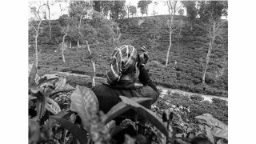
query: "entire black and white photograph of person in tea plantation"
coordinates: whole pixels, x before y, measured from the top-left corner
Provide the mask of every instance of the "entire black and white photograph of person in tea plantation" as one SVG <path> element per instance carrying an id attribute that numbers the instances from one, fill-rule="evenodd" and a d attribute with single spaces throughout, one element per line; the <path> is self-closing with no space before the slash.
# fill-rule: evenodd
<path id="1" fill-rule="evenodd" d="M 228 4 L 29 0 L 28 143 L 227 144 Z"/>

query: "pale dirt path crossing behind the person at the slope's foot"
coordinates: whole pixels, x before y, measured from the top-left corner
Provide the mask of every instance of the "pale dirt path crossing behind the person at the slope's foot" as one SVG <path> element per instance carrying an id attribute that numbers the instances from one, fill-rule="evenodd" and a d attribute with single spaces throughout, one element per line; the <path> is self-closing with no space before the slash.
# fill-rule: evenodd
<path id="1" fill-rule="evenodd" d="M 83 78 L 88 78 L 88 79 L 91 78 L 90 75 L 85 75 L 85 74 L 73 74 L 73 73 L 58 72 L 58 71 L 55 71 L 55 72 L 58 73 L 58 74 L 66 74 L 66 75 L 72 75 L 72 76 L 83 77 Z M 102 78 L 102 77 L 95 77 L 95 78 L 106 80 L 106 78 Z M 187 91 L 184 91 L 184 90 L 170 89 L 170 88 L 167 88 L 167 87 L 164 87 L 164 86 L 157 86 L 157 87 L 162 89 L 162 94 L 167 94 L 168 90 L 170 90 L 172 93 L 176 92 L 176 93 L 180 93 L 180 94 L 183 94 L 183 95 L 186 94 L 186 95 L 189 95 L 189 96 L 193 95 L 193 94 L 197 94 L 197 93 L 187 92 Z M 226 98 L 226 97 L 218 97 L 218 96 L 214 96 L 214 95 L 205 95 L 205 94 L 200 94 L 200 95 L 202 95 L 202 97 L 204 98 L 205 101 L 209 101 L 209 102 L 212 102 L 211 98 L 220 98 L 220 99 L 228 101 L 228 98 Z"/>

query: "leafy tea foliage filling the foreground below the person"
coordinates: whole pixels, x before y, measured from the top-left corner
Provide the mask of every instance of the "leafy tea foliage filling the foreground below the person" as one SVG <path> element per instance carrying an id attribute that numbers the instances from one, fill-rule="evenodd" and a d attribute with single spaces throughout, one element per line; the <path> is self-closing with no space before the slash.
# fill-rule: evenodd
<path id="1" fill-rule="evenodd" d="M 51 84 L 53 86 L 53 89 L 54 87 L 56 89 L 62 86 L 64 87 L 66 86 L 65 78 L 59 77 L 56 74 L 45 74 L 41 77 L 34 76 L 37 74 L 36 70 L 37 69 L 35 69 L 34 66 L 30 66 L 29 78 L 30 79 L 35 78 L 36 80 L 34 81 L 34 83 L 41 83 L 42 86 L 48 86 L 48 85 L 50 86 Z M 56 81 L 53 80 L 54 78 L 56 78 Z M 48 82 L 48 84 L 43 84 L 43 82 Z M 64 90 L 64 88 L 62 88 L 61 90 Z M 58 90 L 54 90 L 54 91 L 60 94 Z M 60 101 L 58 101 L 58 98 L 61 98 L 61 97 L 55 94 L 50 94 L 50 96 L 47 98 L 54 99 L 50 101 L 53 104 L 55 103 L 53 101 L 56 101 L 56 100 L 57 100 L 56 102 L 59 103 Z M 73 91 L 73 94 L 70 94 L 68 98 L 71 99 L 71 104 L 69 104 L 70 107 L 68 106 L 63 109 L 63 107 L 60 106 L 62 110 L 59 110 L 58 108 L 54 108 L 52 106 L 52 109 L 55 110 L 56 112 L 53 110 L 49 110 L 49 111 L 53 111 L 53 113 L 51 113 L 53 115 L 51 115 L 50 118 L 49 116 L 48 117 L 43 116 L 42 118 L 38 119 L 39 122 L 38 120 L 36 120 L 36 118 L 30 118 L 30 122 L 29 122 L 30 143 L 75 142 L 77 140 L 82 143 L 86 143 L 86 142 L 108 143 L 110 142 L 110 138 L 116 138 L 118 136 L 116 134 L 119 134 L 119 135 L 126 134 L 126 132 L 128 132 L 126 131 L 126 128 L 125 128 L 126 126 L 134 127 L 132 129 L 134 129 L 135 131 L 138 130 L 136 128 L 137 126 L 142 126 L 145 131 L 140 134 L 136 134 L 136 132 L 134 132 L 132 136 L 130 136 L 130 138 L 126 136 L 125 142 L 136 141 L 136 142 L 161 143 L 161 142 L 166 142 L 167 140 L 167 142 L 171 142 L 171 143 L 172 142 L 188 143 L 190 142 L 191 139 L 197 136 L 204 137 L 207 135 L 206 126 L 203 127 L 201 125 L 198 125 L 194 120 L 194 116 L 198 116 L 198 114 L 195 114 L 194 116 L 193 114 L 192 115 L 190 114 L 194 112 L 194 107 L 198 107 L 193 105 L 196 103 L 197 104 L 199 103 L 194 102 L 193 104 L 193 101 L 191 102 L 189 98 L 180 96 L 178 94 L 176 94 L 175 96 L 170 96 L 170 97 L 164 96 L 164 97 L 158 98 L 158 102 L 152 106 L 153 112 L 150 110 L 147 110 L 146 108 L 138 104 L 139 102 L 144 102 L 148 100 L 148 98 L 121 97 L 122 102 L 114 106 L 109 111 L 108 114 L 102 114 L 101 111 L 98 111 L 97 98 L 95 97 L 94 93 L 88 88 L 86 88 L 85 86 L 76 86 L 76 89 Z M 175 101 L 175 99 L 177 98 L 182 99 L 180 102 L 183 102 L 183 103 L 189 102 L 188 103 L 189 107 L 185 107 L 184 105 L 183 106 L 179 105 L 178 101 Z M 30 101 L 33 101 L 33 100 L 36 100 L 36 99 L 30 97 Z M 64 103 L 65 102 L 66 101 L 64 101 Z M 214 100 L 214 102 L 217 103 L 218 100 Z M 222 101 L 219 101 L 219 102 L 222 102 Z M 63 102 L 61 102 L 60 104 L 62 103 Z M 171 103 L 175 103 L 175 105 L 177 104 L 179 106 L 178 107 L 174 106 Z M 132 122 L 130 120 L 125 120 L 122 122 L 121 127 L 114 126 L 113 124 L 111 124 L 112 122 L 111 120 L 113 118 L 117 117 L 119 114 L 122 114 L 126 110 L 129 110 L 129 108 L 137 111 L 138 116 L 142 116 L 148 119 L 150 123 L 142 124 L 140 122 Z M 216 110 L 218 108 L 214 107 L 214 109 Z M 77 112 L 79 117 L 75 115 Z M 206 115 L 207 114 L 203 114 L 202 116 L 206 116 Z M 226 134 L 227 134 L 225 132 L 226 125 L 224 123 L 214 118 L 204 118 L 202 116 L 198 116 L 197 118 L 201 118 L 202 119 L 201 121 L 204 123 L 211 122 L 208 125 L 215 126 L 214 128 L 211 129 L 212 130 L 211 133 L 214 134 L 214 137 L 226 138 Z M 158 117 L 162 118 L 163 121 L 160 120 Z M 82 123 L 77 122 L 76 119 L 78 118 L 81 119 Z M 61 124 L 60 126 L 58 125 L 58 122 Z M 224 131 L 220 128 L 222 128 Z M 70 132 L 70 134 L 67 133 L 67 130 Z M 122 133 L 120 130 L 121 131 L 125 130 L 126 132 L 123 131 L 125 133 Z M 163 134 L 159 130 L 161 130 Z M 166 132 L 165 130 L 169 130 L 169 132 Z M 58 135 L 63 135 L 63 139 Z M 165 135 L 167 136 L 167 138 Z M 127 138 L 130 140 L 128 140 Z M 132 139 L 134 140 L 131 141 Z"/>

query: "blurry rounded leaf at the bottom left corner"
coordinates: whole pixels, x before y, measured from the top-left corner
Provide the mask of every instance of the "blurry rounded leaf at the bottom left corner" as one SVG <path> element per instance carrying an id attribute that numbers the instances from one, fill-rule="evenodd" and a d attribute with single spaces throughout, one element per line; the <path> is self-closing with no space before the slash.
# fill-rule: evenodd
<path id="1" fill-rule="evenodd" d="M 29 143 L 36 143 L 40 138 L 40 127 L 34 119 L 29 119 Z"/>

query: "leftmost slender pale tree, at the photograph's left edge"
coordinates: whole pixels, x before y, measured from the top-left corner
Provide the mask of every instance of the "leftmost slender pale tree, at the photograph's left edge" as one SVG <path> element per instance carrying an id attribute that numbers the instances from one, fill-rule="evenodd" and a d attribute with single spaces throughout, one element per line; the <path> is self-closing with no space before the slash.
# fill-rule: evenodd
<path id="1" fill-rule="evenodd" d="M 38 68 L 38 35 L 40 31 L 40 26 L 42 22 L 42 14 L 45 12 L 43 11 L 43 6 L 46 6 L 45 3 L 39 2 L 30 2 L 30 12 L 34 15 L 34 18 L 30 19 L 30 26 L 33 27 L 35 31 L 34 36 L 34 50 L 35 50 L 35 66 Z M 39 21 L 39 22 L 38 22 Z"/>

